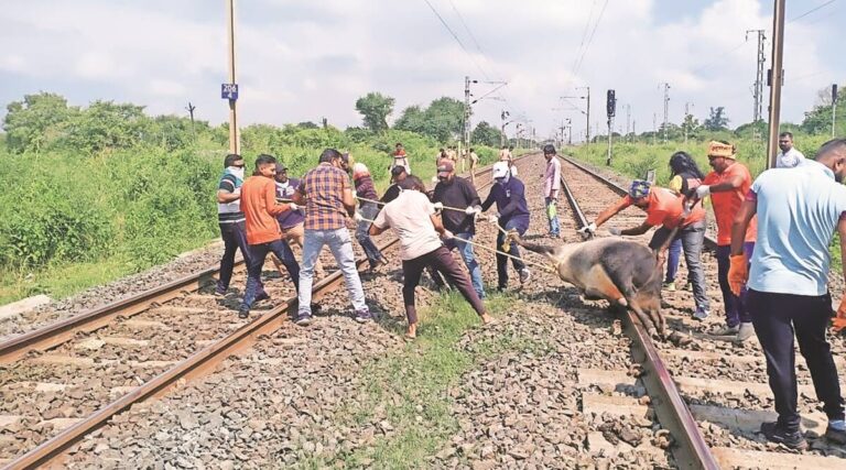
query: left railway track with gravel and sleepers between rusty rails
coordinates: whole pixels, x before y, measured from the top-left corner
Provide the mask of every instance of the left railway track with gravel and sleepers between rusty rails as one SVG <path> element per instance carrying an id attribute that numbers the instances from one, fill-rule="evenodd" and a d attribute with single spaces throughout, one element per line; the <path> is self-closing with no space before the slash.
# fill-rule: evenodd
<path id="1" fill-rule="evenodd" d="M 492 182 L 489 173 L 476 172 L 482 187 Z M 398 239 L 377 241 L 390 250 Z M 362 270 L 367 259 L 357 258 L 357 265 Z M 327 274 L 314 285 L 314 302 L 344 283 L 334 260 L 324 259 L 323 266 Z M 1 342 L 0 464 L 54 462 L 117 414 L 250 348 L 296 306 L 290 278 L 271 280 L 265 289 L 272 307 L 259 304 L 245 324 L 234 314 L 239 297 L 209 294 L 215 274 L 209 267 Z"/>

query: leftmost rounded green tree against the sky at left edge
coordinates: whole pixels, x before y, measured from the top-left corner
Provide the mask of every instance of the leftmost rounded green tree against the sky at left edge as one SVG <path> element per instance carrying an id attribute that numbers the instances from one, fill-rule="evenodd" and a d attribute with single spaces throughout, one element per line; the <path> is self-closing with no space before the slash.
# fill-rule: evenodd
<path id="1" fill-rule="evenodd" d="M 64 136 L 68 121 L 78 111 L 76 107 L 68 107 L 61 95 L 43 91 L 25 95 L 23 101 L 7 106 L 6 144 L 15 153 L 40 152 Z"/>

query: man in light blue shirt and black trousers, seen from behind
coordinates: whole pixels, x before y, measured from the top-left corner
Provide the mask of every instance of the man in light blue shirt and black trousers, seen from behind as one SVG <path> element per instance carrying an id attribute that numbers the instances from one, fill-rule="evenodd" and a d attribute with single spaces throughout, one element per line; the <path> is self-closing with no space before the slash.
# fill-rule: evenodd
<path id="1" fill-rule="evenodd" d="M 794 335 L 828 417 L 825 437 L 846 444 L 839 378 L 825 339 L 832 317 L 828 247 L 835 231 L 846 262 L 845 176 L 846 139 L 831 140 L 820 147 L 815 160 L 791 171 L 761 173 L 731 227 L 728 280 L 735 295 L 744 285 L 749 288 L 747 304 L 767 358 L 779 414 L 777 422 L 761 424 L 761 433 L 794 449 L 807 447 L 796 409 Z M 756 215 L 758 242 L 749 267 L 744 244 Z M 837 316 L 846 316 L 846 297 Z"/>

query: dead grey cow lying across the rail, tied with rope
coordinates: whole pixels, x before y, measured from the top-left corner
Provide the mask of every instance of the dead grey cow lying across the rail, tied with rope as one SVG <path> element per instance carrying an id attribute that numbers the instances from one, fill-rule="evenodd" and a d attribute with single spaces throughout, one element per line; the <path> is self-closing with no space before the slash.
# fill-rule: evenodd
<path id="1" fill-rule="evenodd" d="M 661 269 L 655 253 L 638 242 L 599 238 L 560 247 L 509 238 L 529 251 L 545 255 L 558 276 L 581 288 L 585 298 L 606 299 L 611 306 L 631 308 L 651 336 L 665 337 L 661 315 Z"/>

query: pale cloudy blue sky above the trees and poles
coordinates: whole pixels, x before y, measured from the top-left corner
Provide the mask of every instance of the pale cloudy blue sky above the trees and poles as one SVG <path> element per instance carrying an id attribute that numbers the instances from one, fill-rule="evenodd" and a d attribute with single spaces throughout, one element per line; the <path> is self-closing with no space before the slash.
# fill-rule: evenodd
<path id="1" fill-rule="evenodd" d="M 772 28 L 772 2 L 758 0 L 608 0 L 604 11 L 606 0 L 430 1 L 464 47 L 425 0 L 237 0 L 241 122 L 326 117 L 356 125 L 355 100 L 371 90 L 397 99 L 395 118 L 410 105 L 462 98 L 470 75 L 509 81 L 499 95 L 506 101 L 479 101 L 475 121 L 497 122 L 506 108 L 541 135 L 561 119 L 581 125 L 578 110 L 562 108 L 584 101 L 560 97 L 585 85 L 592 121 L 603 124 L 605 90 L 615 88 L 637 130 L 651 128 L 653 113 L 661 119 L 662 81 L 671 86 L 671 121 L 688 102 L 701 119 L 724 106 L 739 124 L 751 119 L 756 67 L 745 31 L 770 36 Z M 825 3 L 790 0 L 787 17 Z M 800 121 L 817 90 L 846 83 L 844 23 L 846 0 L 788 23 L 783 120 Z M 0 10 L 0 42 L 12 45 L 0 51 L 0 105 L 39 90 L 83 106 L 131 101 L 153 113 L 184 113 L 191 100 L 200 119 L 221 122 L 225 31 L 223 1 L 20 2 Z M 769 59 L 769 42 L 766 51 Z M 474 94 L 488 89 L 479 84 Z"/>

